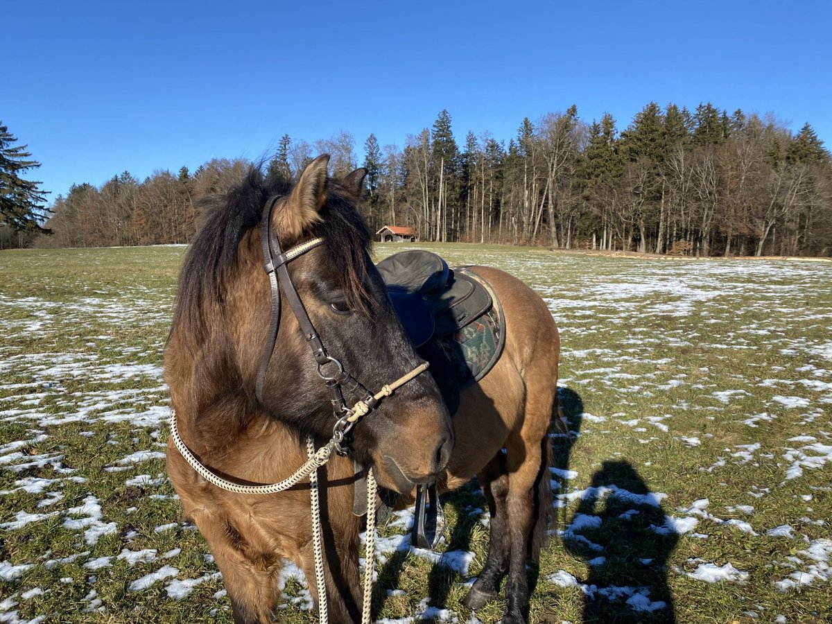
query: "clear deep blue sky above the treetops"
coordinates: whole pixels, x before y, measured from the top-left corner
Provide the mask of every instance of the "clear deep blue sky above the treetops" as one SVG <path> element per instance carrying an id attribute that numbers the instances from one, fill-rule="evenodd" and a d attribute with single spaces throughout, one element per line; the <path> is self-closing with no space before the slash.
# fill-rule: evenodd
<path id="1" fill-rule="evenodd" d="M 577 104 L 774 112 L 832 147 L 830 2 L 4 2 L 0 120 L 52 197 L 447 108 L 462 143 Z"/>

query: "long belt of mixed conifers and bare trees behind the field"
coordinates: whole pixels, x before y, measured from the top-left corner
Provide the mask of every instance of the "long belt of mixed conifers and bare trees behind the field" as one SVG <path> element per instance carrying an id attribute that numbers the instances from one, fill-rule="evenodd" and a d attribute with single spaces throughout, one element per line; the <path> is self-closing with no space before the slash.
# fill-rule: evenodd
<path id="1" fill-rule="evenodd" d="M 196 171 L 124 171 L 80 183 L 50 206 L 38 247 L 187 243 L 201 200 L 250 166 L 297 176 L 319 153 L 331 172 L 367 171 L 361 209 L 372 230 L 409 226 L 420 240 L 542 245 L 671 255 L 832 255 L 832 160 L 809 123 L 656 102 L 626 128 L 576 106 L 525 118 L 516 136 L 453 134 L 441 111 L 404 146 L 370 135 L 363 160 L 342 131 L 308 143 L 282 136 L 260 163 L 213 159 Z"/>

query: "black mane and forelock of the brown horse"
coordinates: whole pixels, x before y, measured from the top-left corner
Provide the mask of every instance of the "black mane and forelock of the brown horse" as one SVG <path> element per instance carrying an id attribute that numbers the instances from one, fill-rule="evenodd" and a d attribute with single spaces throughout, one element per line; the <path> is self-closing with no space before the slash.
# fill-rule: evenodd
<path id="1" fill-rule="evenodd" d="M 207 312 L 224 305 L 226 284 L 239 268 L 240 242 L 252 228 L 260 226 L 265 203 L 288 195 L 292 186 L 290 179 L 265 176 L 262 166 L 255 165 L 239 185 L 201 202 L 202 225 L 180 270 L 171 334 L 172 328 L 185 323 L 191 339 L 202 342 Z M 332 192 L 338 189 L 339 184 L 330 180 L 327 202 L 320 211 L 322 220 L 313 226 L 312 233 L 324 237 L 328 261 L 344 270 L 349 304 L 365 308 L 364 252 L 369 250 L 372 236 L 358 210 L 344 200 L 342 193 Z"/>

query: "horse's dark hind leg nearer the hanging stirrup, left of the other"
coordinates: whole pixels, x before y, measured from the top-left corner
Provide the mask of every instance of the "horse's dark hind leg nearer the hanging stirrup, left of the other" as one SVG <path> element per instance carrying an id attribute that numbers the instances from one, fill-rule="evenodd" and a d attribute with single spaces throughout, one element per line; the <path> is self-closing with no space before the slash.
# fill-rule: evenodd
<path id="1" fill-rule="evenodd" d="M 488 557 L 483 571 L 468 591 L 463 600 L 471 609 L 485 606 L 491 598 L 497 595 L 500 582 L 508 571 L 508 559 L 511 543 L 508 540 L 508 473 L 506 470 L 506 456 L 503 451 L 495 455 L 485 468 L 477 473 L 477 479 L 483 488 L 483 494 L 488 501 L 491 514 L 488 524 Z"/>

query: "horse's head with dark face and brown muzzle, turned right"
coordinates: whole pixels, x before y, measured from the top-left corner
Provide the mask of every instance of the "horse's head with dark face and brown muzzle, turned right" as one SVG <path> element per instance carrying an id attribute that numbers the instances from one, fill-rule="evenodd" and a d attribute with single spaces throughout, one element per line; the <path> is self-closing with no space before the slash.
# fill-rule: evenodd
<path id="1" fill-rule="evenodd" d="M 219 260 L 225 267 L 215 267 L 215 273 L 225 275 L 224 285 L 218 291 L 220 303 L 215 306 L 217 320 L 221 319 L 225 328 L 206 328 L 206 340 L 214 341 L 214 349 L 230 352 L 220 358 L 222 362 L 217 366 L 217 374 L 232 379 L 228 386 L 237 399 L 230 403 L 243 402 L 248 414 L 260 411 L 302 435 L 311 433 L 320 441 L 332 437 L 337 418 L 333 414 L 333 396 L 319 370 L 329 375 L 336 369 L 319 368 L 308 344 L 310 332 L 302 328 L 290 305 L 291 294 L 287 295 L 282 282 L 279 329 L 272 343 L 270 316 L 275 306 L 270 277 L 263 270 L 268 260 L 264 259 L 261 245 L 263 224 L 251 226 L 255 212 L 262 211 L 264 205 L 273 204 L 264 218 L 270 219 L 282 251 L 323 239 L 322 244 L 285 266 L 290 288 L 294 287 L 299 295 L 329 357 L 337 359 L 371 393 L 422 363 L 394 313 L 379 272 L 369 260 L 371 237 L 355 208 L 365 172 L 356 170 L 344 180 L 334 181 L 327 174 L 328 161 L 329 156 L 312 161 L 295 187 L 279 194 L 276 200 L 274 188 L 269 188 L 261 176 L 250 176 L 249 181 L 226 197 L 225 207 L 211 216 L 219 219 L 234 215 L 235 204 L 239 205 L 236 210 L 249 215 L 247 229 L 237 228 L 235 260 Z M 239 216 L 236 218 L 239 220 Z M 234 239 L 221 224 L 209 223 L 206 228 L 213 228 L 214 238 L 224 239 L 225 244 Z M 195 247 L 205 246 L 200 236 Z M 180 298 L 188 266 L 198 262 L 191 259 L 193 255 L 199 253 L 191 249 L 186 260 Z M 176 319 L 174 326 L 176 330 Z M 212 333 L 224 337 L 211 338 Z M 346 387 L 343 394 L 348 407 L 361 398 L 354 397 Z M 240 420 L 240 426 L 243 425 Z M 419 374 L 382 399 L 354 425 L 348 443 L 354 458 L 374 466 L 384 487 L 409 492 L 414 483 L 428 483 L 436 478 L 453 448 L 453 426 L 430 374 Z"/>

